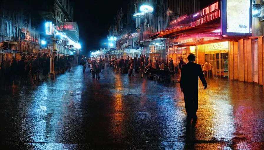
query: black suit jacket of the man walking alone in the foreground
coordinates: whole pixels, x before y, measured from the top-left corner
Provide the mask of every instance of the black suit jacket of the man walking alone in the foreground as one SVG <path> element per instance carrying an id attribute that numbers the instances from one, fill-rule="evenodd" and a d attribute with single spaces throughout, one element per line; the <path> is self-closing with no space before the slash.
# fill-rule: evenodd
<path id="1" fill-rule="evenodd" d="M 201 65 L 189 62 L 182 66 L 181 88 L 183 92 L 194 92 L 198 96 L 198 76 L 203 85 L 207 85 Z"/>

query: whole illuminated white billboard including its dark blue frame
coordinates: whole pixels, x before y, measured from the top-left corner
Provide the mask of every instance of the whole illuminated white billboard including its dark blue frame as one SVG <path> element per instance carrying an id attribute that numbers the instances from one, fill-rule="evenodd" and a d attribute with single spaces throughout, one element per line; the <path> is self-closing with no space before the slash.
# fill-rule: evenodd
<path id="1" fill-rule="evenodd" d="M 222 34 L 250 35 L 250 0 L 222 0 Z"/>

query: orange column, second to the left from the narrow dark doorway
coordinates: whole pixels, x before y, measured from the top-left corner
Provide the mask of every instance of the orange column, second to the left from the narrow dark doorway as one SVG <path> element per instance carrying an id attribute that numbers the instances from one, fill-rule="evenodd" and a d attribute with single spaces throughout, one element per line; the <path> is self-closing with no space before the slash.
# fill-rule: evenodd
<path id="1" fill-rule="evenodd" d="M 238 40 L 238 81 L 245 81 L 244 78 L 244 46 L 243 39 Z"/>

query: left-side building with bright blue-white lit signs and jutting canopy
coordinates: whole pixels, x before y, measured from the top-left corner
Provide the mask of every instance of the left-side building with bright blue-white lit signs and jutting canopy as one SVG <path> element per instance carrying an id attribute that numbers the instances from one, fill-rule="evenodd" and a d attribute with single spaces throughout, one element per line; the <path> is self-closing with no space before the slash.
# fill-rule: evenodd
<path id="1" fill-rule="evenodd" d="M 72 6 L 70 0 L 48 0 L 39 8 L 43 18 L 40 32 L 40 49 L 52 54 L 51 62 L 56 55 L 74 55 L 78 60 L 81 46 L 78 43 L 78 25 L 72 22 Z M 51 63 L 53 65 L 54 63 Z M 50 67 L 54 73 L 54 66 Z"/>

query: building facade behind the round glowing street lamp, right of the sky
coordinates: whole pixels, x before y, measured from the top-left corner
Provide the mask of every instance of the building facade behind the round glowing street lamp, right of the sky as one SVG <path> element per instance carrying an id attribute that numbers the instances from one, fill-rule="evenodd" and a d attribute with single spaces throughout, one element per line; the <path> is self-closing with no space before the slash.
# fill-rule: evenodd
<path id="1" fill-rule="evenodd" d="M 127 15 L 119 10 L 115 18 L 115 28 L 108 34 L 116 37 L 114 46 L 120 56 L 146 54 L 151 60 L 166 60 L 169 41 L 157 38 L 158 34 L 170 26 L 170 22 L 180 15 L 192 14 L 199 10 L 199 0 L 131 0 Z"/>

